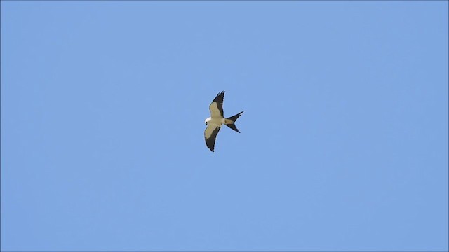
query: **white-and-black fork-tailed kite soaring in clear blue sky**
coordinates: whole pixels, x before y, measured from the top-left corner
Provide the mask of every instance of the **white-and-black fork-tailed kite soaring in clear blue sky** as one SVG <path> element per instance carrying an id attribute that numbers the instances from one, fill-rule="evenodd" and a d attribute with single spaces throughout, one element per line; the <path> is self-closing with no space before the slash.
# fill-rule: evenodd
<path id="1" fill-rule="evenodd" d="M 210 151 L 214 150 L 215 139 L 217 138 L 217 134 L 222 125 L 226 125 L 232 130 L 239 132 L 234 123 L 243 111 L 230 118 L 225 118 L 225 115 L 223 114 L 223 98 L 225 98 L 225 91 L 220 92 L 217 94 L 217 97 L 213 99 L 212 103 L 209 105 L 210 117 L 206 118 L 204 121 L 207 125 L 206 130 L 204 130 L 204 139 L 206 139 L 206 146 L 208 146 Z"/>

